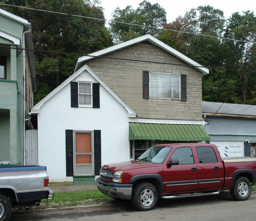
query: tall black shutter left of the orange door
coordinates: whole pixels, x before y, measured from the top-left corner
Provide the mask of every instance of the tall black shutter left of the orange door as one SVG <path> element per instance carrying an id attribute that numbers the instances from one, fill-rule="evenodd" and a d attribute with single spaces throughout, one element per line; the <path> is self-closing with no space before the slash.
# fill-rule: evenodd
<path id="1" fill-rule="evenodd" d="M 66 175 L 74 176 L 73 131 L 66 130 Z"/>

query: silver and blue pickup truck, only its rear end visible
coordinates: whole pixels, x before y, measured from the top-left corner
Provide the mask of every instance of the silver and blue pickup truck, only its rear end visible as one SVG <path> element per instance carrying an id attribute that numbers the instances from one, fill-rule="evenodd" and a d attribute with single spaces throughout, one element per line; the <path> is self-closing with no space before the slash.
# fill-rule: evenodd
<path id="1" fill-rule="evenodd" d="M 0 166 L 0 221 L 11 216 L 12 207 L 39 205 L 53 199 L 46 166 Z"/>

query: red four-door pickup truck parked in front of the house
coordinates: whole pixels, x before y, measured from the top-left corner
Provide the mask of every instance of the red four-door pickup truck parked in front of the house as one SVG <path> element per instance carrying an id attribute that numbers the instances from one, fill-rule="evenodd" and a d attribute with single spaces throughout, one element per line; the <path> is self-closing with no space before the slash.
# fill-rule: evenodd
<path id="1" fill-rule="evenodd" d="M 230 190 L 238 201 L 250 197 L 256 158 L 221 158 L 213 144 L 154 145 L 137 160 L 100 169 L 97 186 L 114 199 L 131 199 L 138 210 L 151 210 L 158 198 L 216 195 Z"/>

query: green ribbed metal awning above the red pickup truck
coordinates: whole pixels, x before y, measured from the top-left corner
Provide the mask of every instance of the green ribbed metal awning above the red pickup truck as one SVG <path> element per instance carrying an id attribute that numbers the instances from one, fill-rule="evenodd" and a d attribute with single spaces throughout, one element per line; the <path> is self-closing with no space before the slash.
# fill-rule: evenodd
<path id="1" fill-rule="evenodd" d="M 210 141 L 201 125 L 129 123 L 129 140 Z"/>

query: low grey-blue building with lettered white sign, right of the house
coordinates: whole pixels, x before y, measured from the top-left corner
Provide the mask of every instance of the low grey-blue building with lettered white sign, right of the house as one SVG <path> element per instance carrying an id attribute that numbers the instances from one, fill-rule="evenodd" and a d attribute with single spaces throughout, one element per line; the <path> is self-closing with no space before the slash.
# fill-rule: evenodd
<path id="1" fill-rule="evenodd" d="M 202 101 L 204 129 L 221 157 L 256 157 L 256 106 Z"/>

